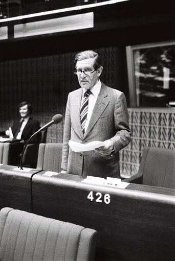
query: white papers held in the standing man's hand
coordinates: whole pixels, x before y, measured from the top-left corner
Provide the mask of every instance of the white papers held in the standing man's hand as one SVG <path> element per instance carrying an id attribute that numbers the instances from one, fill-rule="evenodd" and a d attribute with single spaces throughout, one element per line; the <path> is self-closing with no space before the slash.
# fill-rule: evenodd
<path id="1" fill-rule="evenodd" d="M 75 151 L 75 152 L 80 152 L 80 151 L 93 151 L 99 147 L 104 146 L 103 141 L 92 141 L 91 143 L 76 143 L 75 141 L 69 140 L 69 147 Z"/>

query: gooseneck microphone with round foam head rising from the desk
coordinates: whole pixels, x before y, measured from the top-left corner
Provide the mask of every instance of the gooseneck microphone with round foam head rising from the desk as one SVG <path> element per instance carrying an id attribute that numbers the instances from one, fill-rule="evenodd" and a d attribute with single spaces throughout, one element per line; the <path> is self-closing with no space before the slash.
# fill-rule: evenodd
<path id="1" fill-rule="evenodd" d="M 43 127 L 41 127 L 38 131 L 36 131 L 27 141 L 26 145 L 24 146 L 24 149 L 23 149 L 23 152 L 21 154 L 21 157 L 20 157 L 20 170 L 23 170 L 23 167 L 22 167 L 22 163 L 23 163 L 23 155 L 24 155 L 24 152 L 26 150 L 26 147 L 27 145 L 29 144 L 29 141 L 31 140 L 31 138 L 33 138 L 33 136 L 35 136 L 36 134 L 38 134 L 39 132 L 43 131 L 43 130 L 46 130 L 47 128 L 49 128 L 51 125 L 53 124 L 57 124 L 57 123 L 60 123 L 62 121 L 62 115 L 61 114 L 56 114 L 52 117 L 52 121 L 47 123 L 46 125 L 44 125 Z"/>

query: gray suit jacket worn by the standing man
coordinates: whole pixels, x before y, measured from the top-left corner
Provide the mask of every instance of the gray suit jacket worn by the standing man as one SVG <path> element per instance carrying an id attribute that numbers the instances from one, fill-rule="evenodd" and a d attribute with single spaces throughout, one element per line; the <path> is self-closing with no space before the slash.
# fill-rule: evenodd
<path id="1" fill-rule="evenodd" d="M 61 168 L 83 176 L 120 177 L 119 151 L 130 142 L 128 112 L 124 93 L 102 83 L 88 129 L 83 135 L 80 123 L 82 88 L 69 93 L 65 112 Z M 101 155 L 95 151 L 74 152 L 68 141 L 90 143 L 111 139 L 115 153 Z"/>

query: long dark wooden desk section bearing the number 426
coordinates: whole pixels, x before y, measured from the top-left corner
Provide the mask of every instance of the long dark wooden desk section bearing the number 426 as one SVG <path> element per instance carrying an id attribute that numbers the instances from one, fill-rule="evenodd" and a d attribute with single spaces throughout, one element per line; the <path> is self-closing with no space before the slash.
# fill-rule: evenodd
<path id="1" fill-rule="evenodd" d="M 82 183 L 79 176 L 44 173 L 32 178 L 34 213 L 96 229 L 96 260 L 175 260 L 173 189 L 137 184 L 123 189 Z M 97 202 L 97 193 L 102 202 Z M 104 202 L 106 194 L 109 204 Z"/>

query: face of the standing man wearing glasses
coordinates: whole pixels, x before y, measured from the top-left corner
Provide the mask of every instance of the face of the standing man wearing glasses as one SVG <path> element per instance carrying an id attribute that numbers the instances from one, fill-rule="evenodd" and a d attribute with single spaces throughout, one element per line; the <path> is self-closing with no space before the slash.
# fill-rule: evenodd
<path id="1" fill-rule="evenodd" d="M 77 61 L 76 64 L 78 70 L 88 70 L 89 72 L 94 71 L 94 58 L 84 59 L 82 61 Z M 78 75 L 78 82 L 82 88 L 90 90 L 98 82 L 99 76 L 101 75 L 103 67 L 101 66 L 91 75 L 85 75 L 83 72 Z"/>

